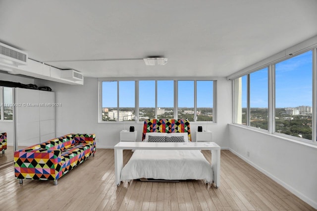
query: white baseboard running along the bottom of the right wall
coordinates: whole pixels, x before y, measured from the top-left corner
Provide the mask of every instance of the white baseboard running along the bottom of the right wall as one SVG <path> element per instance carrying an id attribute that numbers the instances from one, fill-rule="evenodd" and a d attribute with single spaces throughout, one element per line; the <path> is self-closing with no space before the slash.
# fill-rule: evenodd
<path id="1" fill-rule="evenodd" d="M 239 153 L 232 150 L 231 148 L 229 148 L 229 151 L 232 152 L 233 154 L 235 154 L 236 156 L 238 156 L 239 158 L 243 159 L 244 161 L 246 161 L 247 163 L 249 163 L 253 167 L 255 167 L 257 170 L 264 173 L 266 176 L 268 176 L 269 178 L 271 178 L 272 180 L 274 180 L 275 182 L 277 182 L 278 184 L 280 184 L 284 188 L 286 188 L 288 191 L 290 191 L 292 194 L 294 194 L 295 196 L 297 196 L 298 198 L 300 198 L 301 200 L 303 200 L 304 202 L 306 202 L 307 204 L 312 206 L 314 209 L 317 209 L 317 202 L 313 201 L 312 199 L 308 198 L 307 196 L 305 196 L 301 192 L 297 191 L 296 189 L 294 189 L 290 185 L 286 184 L 284 181 L 282 181 L 279 178 L 275 177 L 274 175 L 270 174 L 268 171 L 264 170 L 259 165 L 255 164 L 254 162 L 250 161 L 249 159 L 241 156 Z"/>

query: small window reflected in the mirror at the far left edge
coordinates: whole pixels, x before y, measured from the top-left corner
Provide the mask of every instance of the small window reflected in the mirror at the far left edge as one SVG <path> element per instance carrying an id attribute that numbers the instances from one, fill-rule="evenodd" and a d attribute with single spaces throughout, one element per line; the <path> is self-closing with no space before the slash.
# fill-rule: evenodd
<path id="1" fill-rule="evenodd" d="M 0 120 L 12 120 L 13 118 L 13 89 L 11 87 L 0 88 Z"/>

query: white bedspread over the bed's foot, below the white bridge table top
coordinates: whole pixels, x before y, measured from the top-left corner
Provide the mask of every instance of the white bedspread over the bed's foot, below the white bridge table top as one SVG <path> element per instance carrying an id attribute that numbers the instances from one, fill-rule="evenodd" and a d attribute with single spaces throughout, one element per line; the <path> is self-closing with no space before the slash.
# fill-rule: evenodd
<path id="1" fill-rule="evenodd" d="M 211 183 L 213 171 L 199 150 L 136 150 L 121 170 L 121 181 L 139 178 Z"/>

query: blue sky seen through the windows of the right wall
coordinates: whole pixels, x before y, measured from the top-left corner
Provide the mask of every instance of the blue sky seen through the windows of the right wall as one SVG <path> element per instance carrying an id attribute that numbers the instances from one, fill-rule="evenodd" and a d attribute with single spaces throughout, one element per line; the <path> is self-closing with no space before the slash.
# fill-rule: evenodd
<path id="1" fill-rule="evenodd" d="M 312 71 L 312 51 L 276 63 L 275 107 L 312 106 Z M 250 107 L 267 107 L 267 78 L 267 68 L 250 74 Z M 246 76 L 242 86 L 242 107 L 246 107 Z"/>

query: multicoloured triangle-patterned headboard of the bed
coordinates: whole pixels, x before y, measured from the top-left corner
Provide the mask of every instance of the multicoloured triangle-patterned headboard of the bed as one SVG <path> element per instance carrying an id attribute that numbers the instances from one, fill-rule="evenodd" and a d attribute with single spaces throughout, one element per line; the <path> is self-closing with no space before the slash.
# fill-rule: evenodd
<path id="1" fill-rule="evenodd" d="M 145 134 L 149 132 L 159 133 L 188 133 L 188 140 L 192 141 L 190 135 L 189 121 L 186 119 L 145 119 L 143 126 L 142 141 Z"/>

